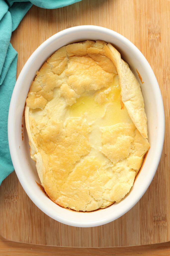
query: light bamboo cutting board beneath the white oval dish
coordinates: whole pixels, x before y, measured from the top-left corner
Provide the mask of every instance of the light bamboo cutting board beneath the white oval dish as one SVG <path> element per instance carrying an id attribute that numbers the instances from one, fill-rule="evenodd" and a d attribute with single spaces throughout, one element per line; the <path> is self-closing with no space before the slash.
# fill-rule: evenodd
<path id="1" fill-rule="evenodd" d="M 25 15 L 11 38 L 18 51 L 17 77 L 44 40 L 68 27 L 103 26 L 132 41 L 149 61 L 160 85 L 165 142 L 145 195 L 124 216 L 99 227 L 77 228 L 51 219 L 33 204 L 13 172 L 0 186 L 0 234 L 4 238 L 64 247 L 120 247 L 170 240 L 169 13 L 169 0 L 83 0 L 54 10 L 33 6 Z"/>

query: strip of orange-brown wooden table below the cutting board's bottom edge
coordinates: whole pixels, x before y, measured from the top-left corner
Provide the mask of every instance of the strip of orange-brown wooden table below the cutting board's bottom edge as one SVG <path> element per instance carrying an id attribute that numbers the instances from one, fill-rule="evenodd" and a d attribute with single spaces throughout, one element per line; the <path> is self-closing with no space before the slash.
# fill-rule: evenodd
<path id="1" fill-rule="evenodd" d="M 170 242 L 133 247 L 75 248 L 25 244 L 0 236 L 0 256 L 169 256 Z"/>

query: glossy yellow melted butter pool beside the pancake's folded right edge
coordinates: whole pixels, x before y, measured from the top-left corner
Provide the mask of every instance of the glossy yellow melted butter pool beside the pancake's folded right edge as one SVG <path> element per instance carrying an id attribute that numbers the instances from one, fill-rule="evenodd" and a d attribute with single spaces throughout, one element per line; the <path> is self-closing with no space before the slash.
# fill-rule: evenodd
<path id="1" fill-rule="evenodd" d="M 87 123 L 93 125 L 97 122 L 101 127 L 124 122 L 131 123 L 132 120 L 126 108 L 121 109 L 120 92 L 119 77 L 116 75 L 108 91 L 107 88 L 102 88 L 78 98 L 76 103 L 68 107 L 68 115 L 85 118 Z"/>

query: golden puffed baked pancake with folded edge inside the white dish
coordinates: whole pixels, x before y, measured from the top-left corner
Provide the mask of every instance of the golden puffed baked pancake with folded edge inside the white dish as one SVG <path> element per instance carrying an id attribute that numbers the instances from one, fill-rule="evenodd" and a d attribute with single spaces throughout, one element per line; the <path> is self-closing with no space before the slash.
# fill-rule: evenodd
<path id="1" fill-rule="evenodd" d="M 119 202 L 149 150 L 140 85 L 104 41 L 63 46 L 43 64 L 26 100 L 30 155 L 47 195 L 92 211 Z"/>

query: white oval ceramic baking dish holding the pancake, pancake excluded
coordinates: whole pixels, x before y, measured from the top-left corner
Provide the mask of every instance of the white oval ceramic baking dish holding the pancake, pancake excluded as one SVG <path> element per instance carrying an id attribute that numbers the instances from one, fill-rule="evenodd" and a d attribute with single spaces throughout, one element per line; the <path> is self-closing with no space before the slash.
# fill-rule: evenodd
<path id="1" fill-rule="evenodd" d="M 58 206 L 37 186 L 40 179 L 35 162 L 30 157 L 27 131 L 22 119 L 31 82 L 44 61 L 61 46 L 88 39 L 110 42 L 121 53 L 122 59 L 129 64 L 138 79 L 148 119 L 150 150 L 132 189 L 124 199 L 105 209 L 76 212 Z M 138 78 L 138 72 L 143 83 Z M 12 163 L 18 179 L 35 205 L 51 218 L 64 224 L 76 227 L 94 227 L 113 221 L 125 214 L 145 193 L 160 161 L 164 141 L 164 126 L 164 108 L 158 82 L 148 61 L 136 46 L 110 29 L 98 26 L 78 26 L 65 29 L 48 38 L 25 63 L 11 97 L 8 115 L 8 141 Z"/>

